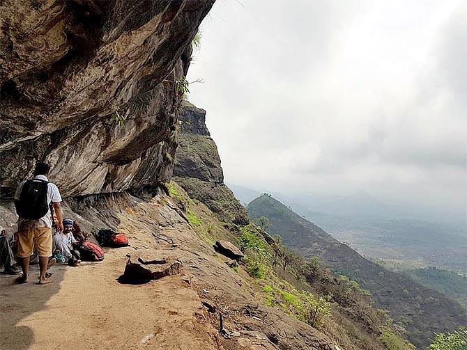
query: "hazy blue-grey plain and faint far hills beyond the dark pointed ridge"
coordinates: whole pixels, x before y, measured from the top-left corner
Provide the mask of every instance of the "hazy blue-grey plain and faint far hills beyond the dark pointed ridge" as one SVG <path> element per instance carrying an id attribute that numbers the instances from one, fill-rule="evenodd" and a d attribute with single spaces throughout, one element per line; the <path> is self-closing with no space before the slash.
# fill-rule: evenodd
<path id="1" fill-rule="evenodd" d="M 229 186 L 244 204 L 260 196 L 260 191 L 245 186 Z M 295 198 L 282 193 L 263 192 L 271 193 L 293 212 L 316 223 L 332 237 L 367 257 L 422 262 L 426 266 L 467 271 L 466 225 L 449 221 L 447 217 L 441 217 L 439 221 L 421 220 L 407 217 L 410 211 L 404 216 L 392 216 L 396 213 L 393 210 L 395 205 L 386 204 L 365 191 L 344 198 L 316 193 L 304 193 Z M 338 209 L 333 209 L 332 203 Z M 343 209 L 345 207 L 350 209 Z M 339 211 L 341 214 L 335 214 Z M 404 212 L 404 208 L 399 212 Z"/>

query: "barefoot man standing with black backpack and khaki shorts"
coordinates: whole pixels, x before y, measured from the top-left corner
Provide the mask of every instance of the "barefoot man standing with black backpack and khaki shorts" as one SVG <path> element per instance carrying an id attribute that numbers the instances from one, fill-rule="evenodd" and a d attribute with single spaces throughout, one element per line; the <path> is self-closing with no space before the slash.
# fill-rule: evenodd
<path id="1" fill-rule="evenodd" d="M 40 278 L 38 285 L 51 281 L 45 278 L 49 257 L 52 256 L 52 204 L 57 218 L 57 229 L 63 230 L 61 214 L 61 196 L 55 184 L 49 182 L 47 175 L 50 166 L 36 164 L 33 180 L 23 181 L 15 193 L 15 206 L 18 216 L 17 257 L 23 271 L 16 279 L 17 283 L 27 283 L 29 257 L 34 247 L 39 256 Z"/>

